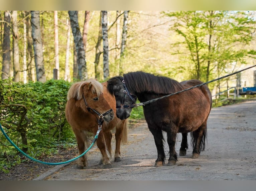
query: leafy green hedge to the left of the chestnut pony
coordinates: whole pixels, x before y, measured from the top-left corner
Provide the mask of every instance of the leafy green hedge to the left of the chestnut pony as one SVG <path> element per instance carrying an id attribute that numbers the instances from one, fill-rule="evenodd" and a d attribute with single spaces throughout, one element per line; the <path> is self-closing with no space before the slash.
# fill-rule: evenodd
<path id="1" fill-rule="evenodd" d="M 56 153 L 57 146 L 75 144 L 74 133 L 65 117 L 70 85 L 63 80 L 28 84 L 0 80 L 0 122 L 10 139 L 30 156 L 50 155 Z M 22 132 L 26 133 L 27 141 L 23 141 Z M 22 162 L 15 148 L 9 145 L 1 134 L 0 170 Z"/>

